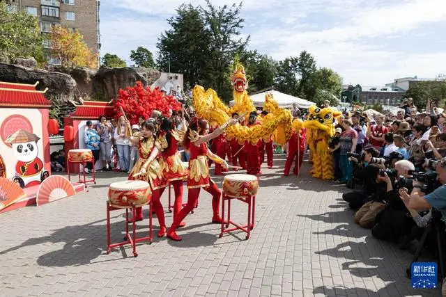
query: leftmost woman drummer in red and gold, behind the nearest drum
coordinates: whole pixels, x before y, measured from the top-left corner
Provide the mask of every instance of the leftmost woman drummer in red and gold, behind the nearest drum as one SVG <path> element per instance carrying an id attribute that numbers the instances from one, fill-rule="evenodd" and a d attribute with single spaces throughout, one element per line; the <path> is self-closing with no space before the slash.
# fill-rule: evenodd
<path id="1" fill-rule="evenodd" d="M 130 129 L 130 122 L 127 122 L 127 125 L 128 129 Z M 144 180 L 151 185 L 152 207 L 153 210 L 155 210 L 158 223 L 160 223 L 158 237 L 162 237 L 166 234 L 166 223 L 164 222 L 164 209 L 160 202 L 160 191 L 167 186 L 167 180 L 164 178 L 164 175 L 162 175 L 160 163 L 158 163 L 157 158 L 160 152 L 167 147 L 167 143 L 165 143 L 165 139 L 163 138 L 157 139 L 155 133 L 155 124 L 152 121 L 147 120 L 142 125 L 141 134 L 130 137 L 130 141 L 134 145 L 138 145 L 139 159 L 137 163 L 134 164 L 128 179 Z M 137 176 L 134 177 L 133 175 Z M 131 218 L 131 221 L 142 220 L 142 208 L 137 207 L 136 211 L 136 218 Z"/>

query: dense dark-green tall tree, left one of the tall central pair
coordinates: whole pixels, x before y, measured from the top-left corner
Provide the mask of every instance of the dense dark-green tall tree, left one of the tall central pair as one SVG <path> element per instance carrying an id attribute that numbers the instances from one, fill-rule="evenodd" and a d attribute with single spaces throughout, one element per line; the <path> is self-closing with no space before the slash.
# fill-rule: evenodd
<path id="1" fill-rule="evenodd" d="M 204 84 L 208 76 L 208 31 L 200 8 L 181 5 L 176 15 L 167 20 L 171 29 L 157 42 L 157 65 L 161 71 L 184 74 L 185 83 Z"/>

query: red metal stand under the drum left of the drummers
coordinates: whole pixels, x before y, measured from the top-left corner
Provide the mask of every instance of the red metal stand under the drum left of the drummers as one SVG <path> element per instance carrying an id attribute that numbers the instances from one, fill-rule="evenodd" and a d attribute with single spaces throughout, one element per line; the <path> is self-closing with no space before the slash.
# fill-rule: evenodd
<path id="1" fill-rule="evenodd" d="M 149 244 L 152 244 L 153 234 L 152 234 L 152 202 L 148 202 L 148 236 L 137 238 L 137 230 L 136 230 L 136 222 L 133 220 L 133 228 L 132 235 L 130 235 L 129 231 L 129 223 L 128 223 L 128 213 L 129 208 L 125 209 L 125 237 L 124 241 L 120 243 L 111 243 L 112 239 L 110 236 L 110 211 L 118 210 L 121 208 L 113 207 L 109 201 L 107 201 L 107 254 L 110 253 L 112 248 L 117 248 L 118 246 L 124 246 L 126 244 L 130 244 L 132 246 L 132 252 L 134 257 L 138 257 L 137 252 L 137 243 L 141 241 L 149 241 Z M 130 208 L 132 211 L 132 218 L 136 218 L 136 207 Z"/>

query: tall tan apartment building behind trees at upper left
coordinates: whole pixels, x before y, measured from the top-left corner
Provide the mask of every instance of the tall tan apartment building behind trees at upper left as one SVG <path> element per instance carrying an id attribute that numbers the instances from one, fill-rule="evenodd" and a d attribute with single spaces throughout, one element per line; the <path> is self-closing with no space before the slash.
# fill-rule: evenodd
<path id="1" fill-rule="evenodd" d="M 84 35 L 86 45 L 99 52 L 99 0 L 16 0 L 15 5 L 40 19 L 43 34 L 49 33 L 51 27 L 58 24 L 77 29 Z M 45 40 L 44 47 L 48 63 L 60 64 L 59 58 L 51 54 L 50 42 Z"/>

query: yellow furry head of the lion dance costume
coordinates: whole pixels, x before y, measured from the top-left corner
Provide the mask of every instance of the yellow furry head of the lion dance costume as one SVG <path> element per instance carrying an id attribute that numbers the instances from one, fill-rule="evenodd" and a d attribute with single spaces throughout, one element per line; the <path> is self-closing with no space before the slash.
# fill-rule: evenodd
<path id="1" fill-rule="evenodd" d="M 305 128 L 324 131 L 330 137 L 334 135 L 334 119 L 342 115 L 330 107 L 320 109 L 317 106 L 309 107 L 309 115 L 304 123 Z"/>

